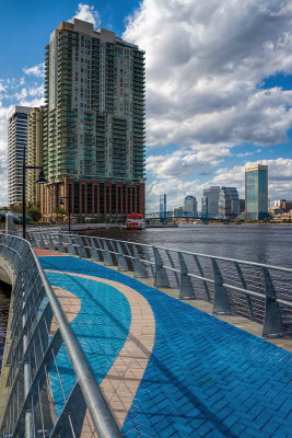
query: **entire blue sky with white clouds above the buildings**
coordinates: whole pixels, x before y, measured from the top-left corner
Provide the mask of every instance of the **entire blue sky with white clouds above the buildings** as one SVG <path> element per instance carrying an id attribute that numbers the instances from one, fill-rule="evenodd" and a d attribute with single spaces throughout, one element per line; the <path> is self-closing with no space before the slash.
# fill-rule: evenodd
<path id="1" fill-rule="evenodd" d="M 73 16 L 147 51 L 147 206 L 236 186 L 269 165 L 270 199 L 292 199 L 290 0 L 1 2 L 0 205 L 7 199 L 10 105 L 43 103 L 44 48 Z"/>

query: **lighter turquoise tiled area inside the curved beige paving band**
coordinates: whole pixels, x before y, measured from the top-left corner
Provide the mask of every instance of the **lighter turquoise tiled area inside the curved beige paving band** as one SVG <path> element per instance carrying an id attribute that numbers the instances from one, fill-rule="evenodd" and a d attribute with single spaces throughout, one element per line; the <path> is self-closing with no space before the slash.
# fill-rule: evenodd
<path id="1" fill-rule="evenodd" d="M 127 299 L 117 289 L 102 283 L 55 273 L 47 273 L 47 277 L 52 286 L 69 290 L 81 300 L 81 310 L 71 327 L 96 381 L 101 383 L 128 336 L 131 311 Z M 75 383 L 65 345 L 56 362 L 50 370 L 50 382 L 59 415 L 65 403 L 63 394 L 67 399 Z"/>

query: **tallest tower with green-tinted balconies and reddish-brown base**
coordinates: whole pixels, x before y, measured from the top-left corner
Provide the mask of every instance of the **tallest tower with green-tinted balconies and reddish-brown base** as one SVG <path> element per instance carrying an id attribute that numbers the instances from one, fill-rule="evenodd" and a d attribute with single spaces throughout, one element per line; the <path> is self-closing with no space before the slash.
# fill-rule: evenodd
<path id="1" fill-rule="evenodd" d="M 62 22 L 46 47 L 45 99 L 44 216 L 62 196 L 80 218 L 144 214 L 144 53 Z"/>

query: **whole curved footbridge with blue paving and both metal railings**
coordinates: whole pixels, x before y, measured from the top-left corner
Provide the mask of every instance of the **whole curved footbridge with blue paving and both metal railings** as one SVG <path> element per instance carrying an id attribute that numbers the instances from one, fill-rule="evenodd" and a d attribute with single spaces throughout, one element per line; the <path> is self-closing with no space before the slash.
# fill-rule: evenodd
<path id="1" fill-rule="evenodd" d="M 1 438 L 290 436 L 292 269 L 27 239 L 1 235 L 13 292 Z"/>

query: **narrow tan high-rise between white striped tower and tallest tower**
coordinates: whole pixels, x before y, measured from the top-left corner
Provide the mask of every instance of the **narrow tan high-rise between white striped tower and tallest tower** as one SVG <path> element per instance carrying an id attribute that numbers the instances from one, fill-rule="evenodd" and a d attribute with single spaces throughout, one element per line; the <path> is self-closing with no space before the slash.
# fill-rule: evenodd
<path id="1" fill-rule="evenodd" d="M 27 124 L 27 164 L 43 165 L 44 142 L 44 107 L 33 108 L 28 115 Z M 39 169 L 27 170 L 27 200 L 34 206 L 40 205 L 40 184 L 35 184 Z"/>

